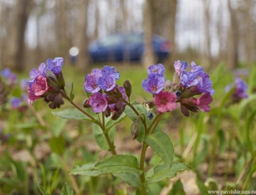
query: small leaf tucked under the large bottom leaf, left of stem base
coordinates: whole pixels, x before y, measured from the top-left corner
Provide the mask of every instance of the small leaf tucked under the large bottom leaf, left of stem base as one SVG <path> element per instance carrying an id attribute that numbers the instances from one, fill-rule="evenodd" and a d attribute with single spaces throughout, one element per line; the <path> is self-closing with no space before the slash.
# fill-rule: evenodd
<path id="1" fill-rule="evenodd" d="M 126 183 L 129 184 L 129 186 L 133 186 L 137 189 L 140 189 L 140 176 L 138 173 L 113 173 L 115 177 L 120 178 L 121 180 L 124 180 Z"/>

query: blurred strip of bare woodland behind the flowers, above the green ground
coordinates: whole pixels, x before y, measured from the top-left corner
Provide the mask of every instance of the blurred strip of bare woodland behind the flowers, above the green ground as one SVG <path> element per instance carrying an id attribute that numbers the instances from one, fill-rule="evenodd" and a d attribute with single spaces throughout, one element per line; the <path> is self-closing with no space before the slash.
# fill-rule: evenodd
<path id="1" fill-rule="evenodd" d="M 241 62 L 250 66 L 255 61 L 255 23 L 255 0 L 0 0 L 0 69 L 22 71 L 61 56 L 86 72 L 95 63 L 96 50 L 108 56 L 103 63 L 172 66 L 180 59 L 205 68 L 224 61 L 235 69 Z M 143 33 L 140 49 L 129 42 L 130 37 L 108 38 L 117 32 Z M 118 47 L 113 48 L 115 44 Z M 103 46 L 108 51 L 129 47 L 129 56 L 136 47 L 140 56 L 125 58 L 123 53 L 110 58 L 111 53 L 102 54 Z M 159 58 L 157 49 L 169 55 Z"/>

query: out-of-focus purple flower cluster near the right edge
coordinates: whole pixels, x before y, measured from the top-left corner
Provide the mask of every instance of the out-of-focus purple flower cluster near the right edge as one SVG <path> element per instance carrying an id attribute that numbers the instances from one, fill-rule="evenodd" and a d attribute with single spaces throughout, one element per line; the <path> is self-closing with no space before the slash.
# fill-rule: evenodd
<path id="1" fill-rule="evenodd" d="M 238 70 L 235 70 L 234 72 L 235 83 L 229 84 L 225 87 L 226 92 L 230 91 L 232 88 L 235 88 L 231 95 L 231 101 L 233 103 L 240 102 L 241 99 L 248 98 L 248 93 L 247 93 L 248 86 L 244 80 L 241 80 L 241 78 L 238 77 L 239 76 L 238 72 L 239 72 Z"/>

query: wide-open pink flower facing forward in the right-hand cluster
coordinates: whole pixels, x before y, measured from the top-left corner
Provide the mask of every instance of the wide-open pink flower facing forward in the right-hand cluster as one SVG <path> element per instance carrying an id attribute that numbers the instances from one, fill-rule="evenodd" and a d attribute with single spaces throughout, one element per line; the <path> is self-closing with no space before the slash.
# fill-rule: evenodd
<path id="1" fill-rule="evenodd" d="M 154 104 L 158 112 L 169 112 L 176 109 L 176 93 L 161 91 L 154 96 Z"/>

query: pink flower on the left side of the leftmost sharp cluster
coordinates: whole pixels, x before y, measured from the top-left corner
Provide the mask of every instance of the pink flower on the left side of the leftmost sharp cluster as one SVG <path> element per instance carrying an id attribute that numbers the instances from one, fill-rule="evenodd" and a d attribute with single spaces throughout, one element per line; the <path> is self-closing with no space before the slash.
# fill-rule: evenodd
<path id="1" fill-rule="evenodd" d="M 28 103 L 32 104 L 34 100 L 39 99 L 42 97 L 42 94 L 49 90 L 46 77 L 39 75 L 34 79 L 34 82 L 26 88 L 26 90 L 29 93 Z"/>

